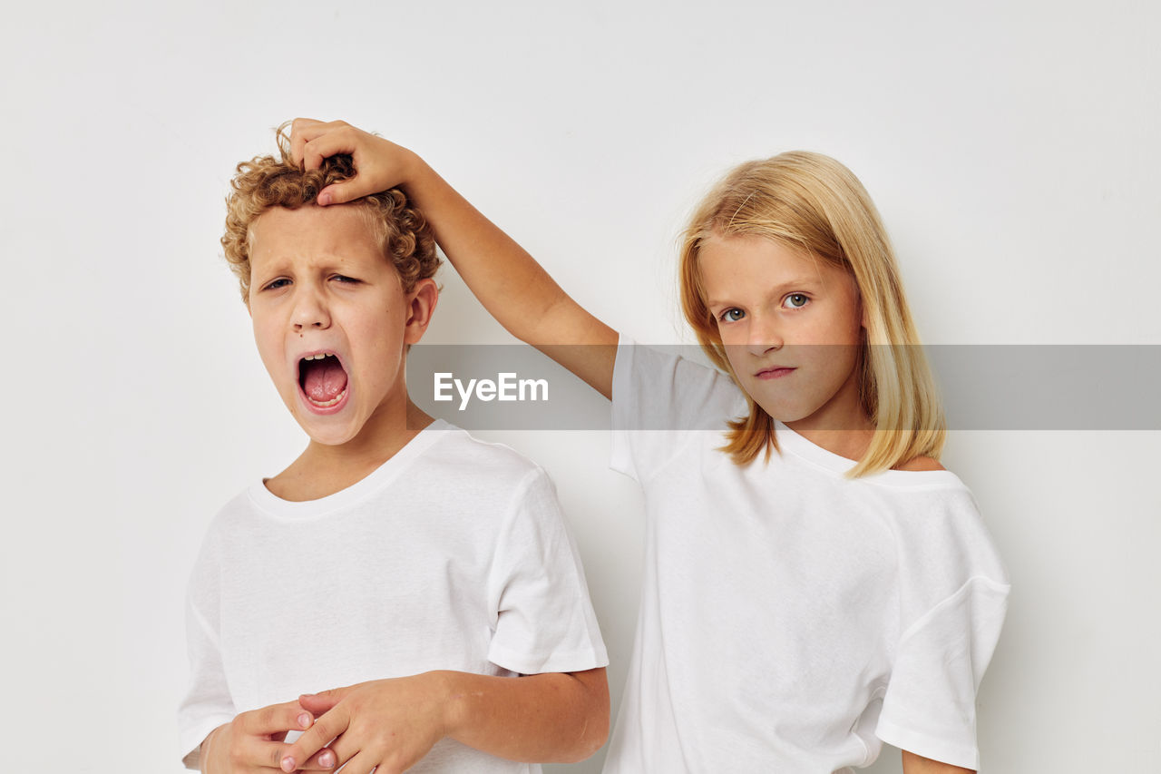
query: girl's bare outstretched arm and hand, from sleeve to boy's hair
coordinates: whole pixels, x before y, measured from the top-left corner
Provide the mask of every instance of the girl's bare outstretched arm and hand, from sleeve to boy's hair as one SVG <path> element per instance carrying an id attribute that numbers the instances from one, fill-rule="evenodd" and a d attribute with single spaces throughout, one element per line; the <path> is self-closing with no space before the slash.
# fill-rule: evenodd
<path id="1" fill-rule="evenodd" d="M 354 158 L 356 177 L 324 188 L 319 205 L 403 187 L 484 308 L 513 336 L 563 365 L 605 397 L 612 396 L 616 332 L 569 298 L 524 248 L 416 153 L 341 121 L 322 123 L 310 119 L 294 121 L 291 152 L 308 170 L 336 153 Z"/>

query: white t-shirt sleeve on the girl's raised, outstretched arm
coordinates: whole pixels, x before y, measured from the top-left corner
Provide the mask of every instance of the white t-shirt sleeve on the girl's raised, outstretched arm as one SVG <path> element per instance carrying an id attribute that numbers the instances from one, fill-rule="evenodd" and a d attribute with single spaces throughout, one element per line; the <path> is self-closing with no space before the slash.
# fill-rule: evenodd
<path id="1" fill-rule="evenodd" d="M 682 357 L 687 347 L 652 347 L 621 335 L 613 366 L 610 467 L 644 482 L 694 433 L 723 432 L 747 411 L 730 378 Z M 724 437 L 722 438 L 724 444 Z"/>

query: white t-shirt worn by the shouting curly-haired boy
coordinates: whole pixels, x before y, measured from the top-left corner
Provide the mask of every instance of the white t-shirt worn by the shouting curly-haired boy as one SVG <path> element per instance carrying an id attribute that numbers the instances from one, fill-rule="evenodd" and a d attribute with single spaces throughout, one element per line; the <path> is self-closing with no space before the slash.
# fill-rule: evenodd
<path id="1" fill-rule="evenodd" d="M 608 664 L 547 474 L 442 421 L 333 495 L 290 502 L 255 483 L 229 502 L 194 567 L 187 630 L 183 752 L 303 693 Z M 410 771 L 540 767 L 445 739 Z"/>

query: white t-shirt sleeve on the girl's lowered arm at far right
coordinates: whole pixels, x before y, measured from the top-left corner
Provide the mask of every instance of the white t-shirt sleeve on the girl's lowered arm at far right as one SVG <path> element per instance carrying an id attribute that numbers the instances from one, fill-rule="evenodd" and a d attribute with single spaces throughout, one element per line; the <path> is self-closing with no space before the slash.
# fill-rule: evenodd
<path id="1" fill-rule="evenodd" d="M 975 696 L 1008 610 L 1007 574 L 966 492 L 917 514 L 901 545 L 901 635 L 875 734 L 978 769 Z"/>

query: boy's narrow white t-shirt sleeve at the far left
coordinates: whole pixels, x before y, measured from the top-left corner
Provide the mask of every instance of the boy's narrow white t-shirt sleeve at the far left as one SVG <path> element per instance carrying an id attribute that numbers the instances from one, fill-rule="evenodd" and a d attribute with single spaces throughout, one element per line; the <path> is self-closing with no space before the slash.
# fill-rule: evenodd
<path id="1" fill-rule="evenodd" d="M 186 594 L 189 689 L 178 708 L 182 762 L 197 769 L 202 740 L 236 715 L 218 646 L 218 571 L 212 535 L 202 545 Z"/>

